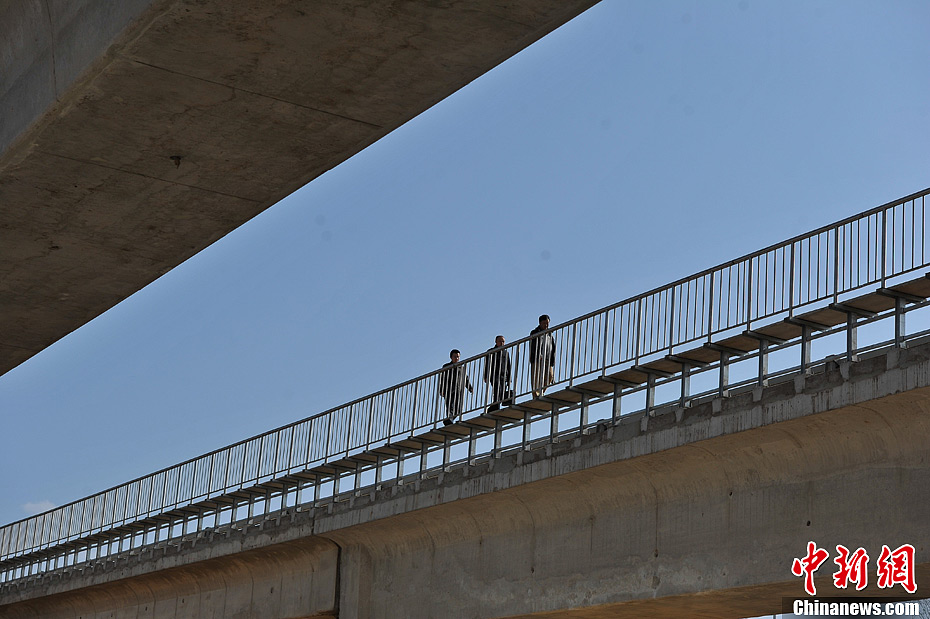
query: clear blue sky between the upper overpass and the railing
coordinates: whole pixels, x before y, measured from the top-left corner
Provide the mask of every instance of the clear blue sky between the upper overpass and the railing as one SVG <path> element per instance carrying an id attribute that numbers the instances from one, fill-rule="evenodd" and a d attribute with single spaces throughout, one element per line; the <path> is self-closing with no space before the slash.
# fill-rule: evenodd
<path id="1" fill-rule="evenodd" d="M 930 186 L 928 27 L 604 0 L 0 377 L 0 522 Z"/>

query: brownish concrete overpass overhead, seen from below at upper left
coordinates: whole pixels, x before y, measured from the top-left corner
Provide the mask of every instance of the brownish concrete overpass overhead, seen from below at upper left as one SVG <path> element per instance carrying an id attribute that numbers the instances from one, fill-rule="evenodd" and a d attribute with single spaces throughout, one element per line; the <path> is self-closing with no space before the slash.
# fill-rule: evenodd
<path id="1" fill-rule="evenodd" d="M 592 4 L 0 0 L 0 373 Z"/>

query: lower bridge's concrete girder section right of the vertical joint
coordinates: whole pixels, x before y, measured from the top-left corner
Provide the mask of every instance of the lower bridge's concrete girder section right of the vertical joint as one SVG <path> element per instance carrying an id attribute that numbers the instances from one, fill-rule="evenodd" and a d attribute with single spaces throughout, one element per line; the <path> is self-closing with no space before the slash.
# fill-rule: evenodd
<path id="1" fill-rule="evenodd" d="M 912 421 L 844 410 L 828 423 L 772 428 L 758 444 L 700 443 L 463 501 L 455 518 L 435 508 L 329 533 L 343 547 L 340 616 L 760 615 L 803 594 L 790 567 L 809 539 L 831 556 L 836 544 L 868 549 L 875 595 L 881 545 L 930 533 L 921 505 L 930 486 L 914 466 L 925 448 L 912 440 L 885 457 L 900 447 L 891 423 Z M 840 423 L 854 430 L 837 446 Z M 818 585 L 836 595 L 834 569 Z M 433 610 L 418 615 L 412 600 L 424 599 Z"/>

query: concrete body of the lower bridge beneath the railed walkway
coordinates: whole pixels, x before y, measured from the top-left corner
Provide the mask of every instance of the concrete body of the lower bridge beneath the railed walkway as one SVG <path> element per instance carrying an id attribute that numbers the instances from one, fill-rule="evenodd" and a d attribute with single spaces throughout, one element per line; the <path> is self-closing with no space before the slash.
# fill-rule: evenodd
<path id="1" fill-rule="evenodd" d="M 904 595 L 874 566 L 913 544 L 928 586 L 930 344 L 641 421 L 47 575 L 0 616 L 739 618 L 803 595 L 811 540 L 865 548 L 868 595 Z"/>

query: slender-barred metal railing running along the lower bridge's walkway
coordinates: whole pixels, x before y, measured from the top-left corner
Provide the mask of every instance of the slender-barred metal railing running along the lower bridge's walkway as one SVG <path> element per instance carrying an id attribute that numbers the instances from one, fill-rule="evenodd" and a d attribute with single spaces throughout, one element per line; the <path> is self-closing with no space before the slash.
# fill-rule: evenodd
<path id="1" fill-rule="evenodd" d="M 840 302 L 876 285 L 884 288 L 894 278 L 928 266 L 928 194 L 930 189 L 553 327 L 549 332 L 555 339 L 556 362 L 551 389 L 639 367 L 825 301 Z M 528 337 L 505 347 L 513 363 L 510 387 L 518 401 L 533 399 L 531 345 Z M 491 390 L 483 381 L 486 361 L 487 353 L 482 353 L 461 362 L 469 382 L 477 387 L 462 394 L 464 419 L 483 413 L 491 403 Z M 210 510 L 211 526 L 220 524 L 224 507 L 232 510 L 230 521 L 238 518 L 240 504 L 248 505 L 250 517 L 259 501 L 267 512 L 273 493 L 284 507 L 305 501 L 307 491 L 312 491 L 312 500 L 319 500 L 326 483 L 332 484 L 331 496 L 339 494 L 339 481 L 347 475 L 355 476 L 356 488 L 367 470 L 376 471 L 380 482 L 391 460 L 396 464 L 395 477 L 403 478 L 405 457 L 416 453 L 410 437 L 442 427 L 446 417 L 442 394 L 448 394 L 442 381 L 443 370 L 436 370 L 5 525 L 0 528 L 0 583 L 89 560 L 94 548 L 96 556 L 113 552 L 114 540 L 116 551 L 122 551 L 124 541 L 133 548 L 158 542 L 162 533 L 186 534 L 189 525 L 205 526 L 204 513 Z M 640 390 L 628 387 L 627 393 Z M 622 395 L 618 390 L 612 397 L 619 404 Z M 529 411 L 523 421 L 525 444 L 532 411 L 522 410 Z M 619 406 L 614 410 L 619 413 Z M 553 413 L 552 418 L 557 425 L 558 416 Z M 580 425 L 585 422 L 582 418 Z M 475 456 L 475 432 L 468 437 L 469 458 Z M 498 453 L 499 423 L 493 432 L 493 450 Z M 436 446 L 421 444 L 422 474 L 429 469 L 430 450 Z M 448 441 L 440 448 L 446 450 L 445 465 Z M 390 456 L 391 450 L 396 457 Z M 372 453 L 377 455 L 351 460 Z"/>

